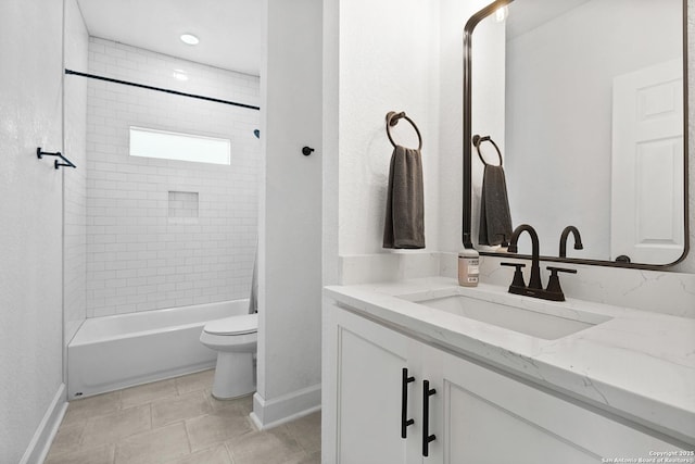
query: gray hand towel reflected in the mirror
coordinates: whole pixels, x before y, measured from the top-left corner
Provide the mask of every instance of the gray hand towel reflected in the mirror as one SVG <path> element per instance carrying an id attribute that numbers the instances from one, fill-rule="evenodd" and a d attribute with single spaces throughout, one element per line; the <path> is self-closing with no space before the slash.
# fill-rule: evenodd
<path id="1" fill-rule="evenodd" d="M 506 244 L 511 238 L 511 214 L 502 166 L 485 165 L 480 197 L 480 244 Z"/>

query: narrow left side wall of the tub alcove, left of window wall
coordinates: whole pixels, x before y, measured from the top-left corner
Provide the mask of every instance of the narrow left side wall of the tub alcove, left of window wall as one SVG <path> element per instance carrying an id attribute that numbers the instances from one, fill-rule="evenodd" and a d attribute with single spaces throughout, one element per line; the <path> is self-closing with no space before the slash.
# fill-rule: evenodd
<path id="1" fill-rule="evenodd" d="M 64 63 L 87 70 L 89 34 L 77 0 L 65 1 Z M 73 338 L 87 316 L 87 80 L 66 77 L 63 86 L 63 143 L 77 165 L 63 179 L 64 341 Z"/>

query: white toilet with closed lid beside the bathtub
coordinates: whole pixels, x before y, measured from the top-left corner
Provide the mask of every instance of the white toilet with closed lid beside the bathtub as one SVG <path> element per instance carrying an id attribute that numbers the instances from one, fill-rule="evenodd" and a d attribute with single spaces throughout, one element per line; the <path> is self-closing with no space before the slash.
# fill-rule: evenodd
<path id="1" fill-rule="evenodd" d="M 257 333 L 257 313 L 225 317 L 205 324 L 200 341 L 217 351 L 213 397 L 230 400 L 255 391 L 253 356 L 256 352 Z"/>

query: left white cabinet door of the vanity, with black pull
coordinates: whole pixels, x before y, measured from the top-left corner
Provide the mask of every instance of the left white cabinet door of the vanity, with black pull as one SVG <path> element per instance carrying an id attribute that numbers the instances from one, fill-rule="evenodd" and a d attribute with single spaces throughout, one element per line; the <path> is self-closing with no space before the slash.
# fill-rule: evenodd
<path id="1" fill-rule="evenodd" d="M 324 339 L 324 373 L 333 374 L 324 377 L 324 421 L 330 423 L 324 423 L 321 462 L 406 463 L 401 392 L 408 338 L 338 309 L 324 314 L 332 333 Z M 408 412 L 415 400 L 409 394 Z"/>

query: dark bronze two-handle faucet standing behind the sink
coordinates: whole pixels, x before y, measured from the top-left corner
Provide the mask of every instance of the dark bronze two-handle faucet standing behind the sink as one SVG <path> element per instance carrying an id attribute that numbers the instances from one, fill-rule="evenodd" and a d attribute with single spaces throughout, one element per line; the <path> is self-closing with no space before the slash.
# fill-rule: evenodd
<path id="1" fill-rule="evenodd" d="M 577 228 L 573 226 L 569 227 L 572 227 L 574 230 L 577 230 Z M 566 228 L 565 230 L 567 230 L 568 228 Z M 521 233 L 523 233 L 525 230 L 528 231 L 531 236 L 531 278 L 529 280 L 529 285 L 527 286 L 523 281 L 523 274 L 521 273 L 521 267 L 525 267 L 526 264 L 502 263 L 503 266 L 516 267 L 516 272 L 514 273 L 514 281 L 509 286 L 509 293 L 523 294 L 527 297 L 541 298 L 543 300 L 551 301 L 565 301 L 565 294 L 563 293 L 563 289 L 560 288 L 560 279 L 558 277 L 558 273 L 577 274 L 577 269 L 566 269 L 563 267 L 548 266 L 547 268 L 548 271 L 551 271 L 551 277 L 547 283 L 547 288 L 543 289 L 540 267 L 541 247 L 539 244 L 539 235 L 536 234 L 535 229 L 528 224 L 521 224 L 519 227 L 514 229 L 511 239 L 509 240 L 508 251 L 510 253 L 516 253 L 518 251 L 517 241 L 519 240 L 519 236 L 521 235 Z M 577 230 L 577 234 L 579 234 L 579 230 Z M 569 235 L 569 230 L 567 231 L 567 235 Z M 574 237 L 578 237 L 578 235 L 576 235 Z M 567 237 L 565 235 L 564 238 L 566 241 Z"/>

